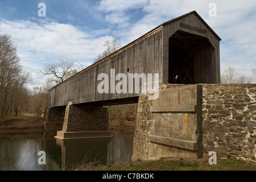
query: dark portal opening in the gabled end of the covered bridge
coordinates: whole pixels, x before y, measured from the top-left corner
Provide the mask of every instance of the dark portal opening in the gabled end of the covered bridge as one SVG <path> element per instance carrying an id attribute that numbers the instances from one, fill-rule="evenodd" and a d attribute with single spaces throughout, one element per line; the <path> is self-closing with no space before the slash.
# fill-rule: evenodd
<path id="1" fill-rule="evenodd" d="M 214 48 L 203 36 L 176 31 L 169 38 L 170 84 L 208 83 L 215 71 Z"/>

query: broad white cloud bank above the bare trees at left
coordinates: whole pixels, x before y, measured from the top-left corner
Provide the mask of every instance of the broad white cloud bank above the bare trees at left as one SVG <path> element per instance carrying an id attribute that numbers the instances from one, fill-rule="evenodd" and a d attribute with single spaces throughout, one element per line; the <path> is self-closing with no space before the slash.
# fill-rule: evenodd
<path id="1" fill-rule="evenodd" d="M 35 23 L 25 20 L 2 20 L 2 32 L 13 35 L 23 65 L 39 68 L 43 61 L 59 56 L 85 61 L 87 66 L 104 51 L 104 41 L 112 36 L 101 35 L 108 30 L 85 32 L 79 27 L 57 22 Z"/>

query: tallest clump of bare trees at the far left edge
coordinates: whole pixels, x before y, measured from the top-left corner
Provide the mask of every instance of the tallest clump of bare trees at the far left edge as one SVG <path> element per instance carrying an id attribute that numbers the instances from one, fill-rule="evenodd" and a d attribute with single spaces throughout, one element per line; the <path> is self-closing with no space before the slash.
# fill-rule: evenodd
<path id="1" fill-rule="evenodd" d="M 30 73 L 24 72 L 11 35 L 0 35 L 0 117 L 18 115 L 28 104 L 26 83 Z"/>

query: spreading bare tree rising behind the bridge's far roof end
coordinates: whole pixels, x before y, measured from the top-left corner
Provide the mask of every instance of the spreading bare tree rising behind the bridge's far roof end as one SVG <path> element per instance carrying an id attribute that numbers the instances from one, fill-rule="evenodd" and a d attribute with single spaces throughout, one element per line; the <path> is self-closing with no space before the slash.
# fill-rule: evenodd
<path id="1" fill-rule="evenodd" d="M 56 63 L 49 62 L 44 65 L 44 68 L 40 70 L 44 76 L 51 76 L 48 78 L 49 82 L 53 84 L 60 84 L 61 82 L 67 80 L 68 78 L 75 75 L 79 70 L 83 69 L 82 65 L 78 61 L 67 59 L 64 60 L 60 58 Z"/>

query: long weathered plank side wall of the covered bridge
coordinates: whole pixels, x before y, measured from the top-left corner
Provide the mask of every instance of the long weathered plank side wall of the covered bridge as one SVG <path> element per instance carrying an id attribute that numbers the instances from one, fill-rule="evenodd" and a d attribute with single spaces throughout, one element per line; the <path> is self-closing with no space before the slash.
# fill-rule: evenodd
<path id="1" fill-rule="evenodd" d="M 135 40 L 134 43 L 123 47 L 110 57 L 107 57 L 100 64 L 96 64 L 90 69 L 64 81 L 49 90 L 49 107 L 80 104 L 93 101 L 107 101 L 127 97 L 136 97 L 141 94 L 128 92 L 128 72 L 129 73 L 158 73 L 159 82 L 163 80 L 162 73 L 163 57 L 163 29 L 156 28 Z M 110 92 L 110 69 L 115 69 L 115 76 L 118 73 L 125 73 L 127 76 L 127 93 L 103 93 L 97 92 L 97 86 L 101 81 L 97 81 L 100 73 L 106 73 L 109 76 Z M 115 81 L 115 85 L 119 81 Z M 141 85 L 141 84 L 140 84 Z"/>

